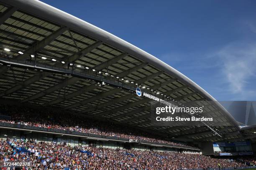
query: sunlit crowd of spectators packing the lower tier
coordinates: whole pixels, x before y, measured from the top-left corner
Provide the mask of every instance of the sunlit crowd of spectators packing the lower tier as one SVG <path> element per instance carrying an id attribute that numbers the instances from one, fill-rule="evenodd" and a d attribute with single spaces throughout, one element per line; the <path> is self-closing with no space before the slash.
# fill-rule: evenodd
<path id="1" fill-rule="evenodd" d="M 24 148 L 19 152 L 17 148 Z M 148 150 L 114 150 L 66 143 L 37 143 L 0 139 L 0 161 L 31 162 L 27 170 L 178 170 L 246 166 L 246 160 L 211 158 L 199 154 L 156 152 Z M 249 160 L 255 165 L 255 160 Z"/>

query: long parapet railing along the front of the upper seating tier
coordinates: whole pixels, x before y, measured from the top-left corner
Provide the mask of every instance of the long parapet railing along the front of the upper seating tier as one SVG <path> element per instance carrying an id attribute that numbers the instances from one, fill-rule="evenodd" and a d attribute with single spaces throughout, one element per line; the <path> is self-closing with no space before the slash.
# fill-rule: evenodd
<path id="1" fill-rule="evenodd" d="M 61 133 L 61 134 L 67 134 L 67 135 L 79 135 L 84 137 L 91 137 L 91 138 L 102 138 L 106 140 L 120 140 L 124 142 L 129 142 L 129 139 L 127 138 L 118 138 L 118 137 L 112 137 L 112 136 L 103 136 L 103 135 L 95 135 L 90 133 L 81 133 L 77 131 L 69 131 L 69 130 L 59 130 L 59 129 L 48 129 L 48 128 L 42 128 L 42 127 L 36 127 L 36 126 L 28 126 L 28 125 L 21 125 L 21 124 L 13 124 L 13 123 L 6 123 L 6 122 L 0 122 L 0 127 L 4 128 L 17 128 L 17 129 L 24 129 L 24 130 L 35 130 L 35 131 L 41 131 L 41 132 L 50 132 L 50 133 Z M 153 145 L 164 145 L 166 147 L 176 147 L 176 148 L 186 148 L 186 149 L 193 149 L 193 150 L 200 150 L 199 148 L 193 148 L 190 146 L 179 146 L 179 145 L 171 145 L 171 144 L 164 144 L 164 143 L 153 143 L 148 142 L 144 140 L 137 140 L 138 143 L 145 143 L 145 144 L 153 144 Z"/>

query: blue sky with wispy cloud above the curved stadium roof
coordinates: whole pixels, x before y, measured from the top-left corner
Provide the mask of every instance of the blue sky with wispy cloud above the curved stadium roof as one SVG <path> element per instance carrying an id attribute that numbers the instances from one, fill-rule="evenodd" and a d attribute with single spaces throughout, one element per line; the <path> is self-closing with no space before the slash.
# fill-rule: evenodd
<path id="1" fill-rule="evenodd" d="M 217 100 L 256 100 L 256 1 L 42 1 L 158 57 Z"/>

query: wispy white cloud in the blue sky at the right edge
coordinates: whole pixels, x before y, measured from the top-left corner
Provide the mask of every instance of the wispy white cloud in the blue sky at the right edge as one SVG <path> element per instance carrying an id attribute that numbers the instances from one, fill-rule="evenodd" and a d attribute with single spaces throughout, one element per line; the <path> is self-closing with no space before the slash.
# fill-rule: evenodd
<path id="1" fill-rule="evenodd" d="M 249 89 L 249 83 L 256 73 L 256 44 L 232 43 L 215 54 L 223 62 L 221 71 L 230 86 L 230 92 L 255 94 L 256 89 Z M 241 96 L 241 97 L 242 97 Z"/>

